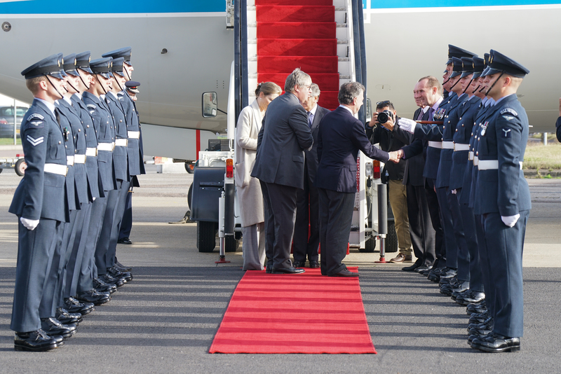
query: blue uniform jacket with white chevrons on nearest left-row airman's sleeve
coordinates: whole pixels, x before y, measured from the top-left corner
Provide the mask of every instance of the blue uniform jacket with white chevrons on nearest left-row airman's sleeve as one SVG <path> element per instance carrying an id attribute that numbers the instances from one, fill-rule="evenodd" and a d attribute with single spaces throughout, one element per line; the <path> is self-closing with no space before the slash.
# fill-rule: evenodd
<path id="1" fill-rule="evenodd" d="M 23 117 L 20 127 L 27 169 L 8 211 L 26 219 L 68 221 L 66 177 L 44 172 L 44 166 L 66 166 L 65 139 L 53 112 L 39 100 Z"/>

